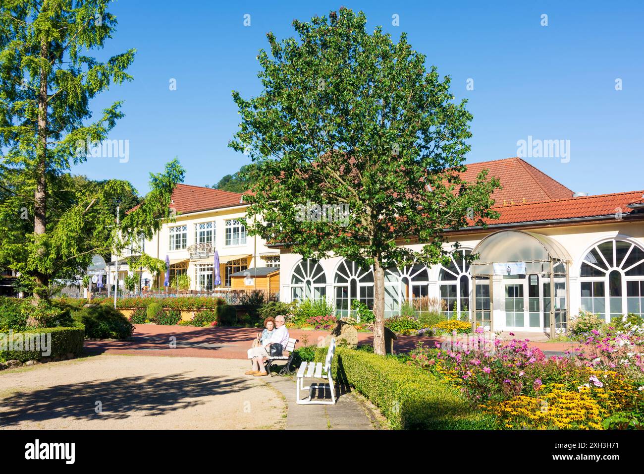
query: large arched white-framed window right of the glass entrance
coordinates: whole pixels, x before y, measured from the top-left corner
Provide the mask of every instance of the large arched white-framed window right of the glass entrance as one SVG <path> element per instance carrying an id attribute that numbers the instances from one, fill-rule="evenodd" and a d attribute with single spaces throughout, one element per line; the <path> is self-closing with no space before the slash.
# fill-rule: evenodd
<path id="1" fill-rule="evenodd" d="M 625 313 L 644 315 L 644 250 L 629 241 L 597 244 L 580 267 L 582 310 L 605 321 Z"/>

